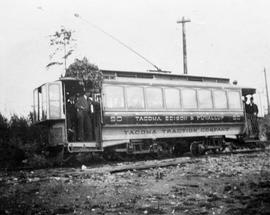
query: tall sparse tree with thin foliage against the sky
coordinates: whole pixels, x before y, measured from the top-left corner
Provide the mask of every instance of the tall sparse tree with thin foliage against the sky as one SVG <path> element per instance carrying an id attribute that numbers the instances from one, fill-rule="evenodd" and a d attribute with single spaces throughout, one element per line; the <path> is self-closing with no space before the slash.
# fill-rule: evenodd
<path id="1" fill-rule="evenodd" d="M 65 66 L 65 71 L 67 69 L 67 58 L 74 52 L 75 49 L 75 39 L 73 38 L 74 31 L 67 30 L 65 27 L 61 27 L 59 31 L 56 31 L 54 34 L 50 35 L 50 46 L 53 47 L 53 52 L 50 55 L 50 62 L 46 67 L 49 68 L 54 65 L 63 65 Z M 60 60 L 54 60 L 58 53 L 61 54 Z"/>

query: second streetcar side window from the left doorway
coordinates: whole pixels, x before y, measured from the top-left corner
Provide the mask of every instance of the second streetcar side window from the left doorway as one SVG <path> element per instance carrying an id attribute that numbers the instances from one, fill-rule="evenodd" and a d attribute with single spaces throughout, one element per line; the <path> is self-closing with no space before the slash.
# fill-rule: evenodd
<path id="1" fill-rule="evenodd" d="M 142 87 L 127 87 L 126 95 L 128 108 L 144 108 Z"/>

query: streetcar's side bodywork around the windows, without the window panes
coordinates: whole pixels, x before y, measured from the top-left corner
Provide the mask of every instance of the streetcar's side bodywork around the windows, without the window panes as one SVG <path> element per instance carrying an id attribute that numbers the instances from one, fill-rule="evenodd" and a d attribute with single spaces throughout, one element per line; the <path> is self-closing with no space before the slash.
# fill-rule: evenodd
<path id="1" fill-rule="evenodd" d="M 122 86 L 124 88 L 125 104 L 121 108 L 108 108 L 105 101 L 106 96 L 102 94 L 102 102 L 104 104 L 103 147 L 129 142 L 132 139 L 238 135 L 244 129 L 245 119 L 242 103 L 239 104 L 237 109 L 230 108 L 228 104 L 227 108 L 217 109 L 213 106 L 212 108 L 203 109 L 198 106 L 198 95 L 196 94 L 197 108 L 195 109 L 186 109 L 182 105 L 179 108 L 169 109 L 165 105 L 164 90 L 166 88 L 179 90 L 186 88 L 195 90 L 208 89 L 212 93 L 215 90 L 223 90 L 226 92 L 227 99 L 229 91 L 237 91 L 239 92 L 240 99 L 241 88 L 230 84 L 227 79 L 192 81 L 185 79 L 184 76 L 179 79 L 171 79 L 170 75 L 162 75 L 161 77 L 150 79 L 115 77 L 104 80 L 103 89 L 106 86 Z M 161 88 L 163 92 L 163 107 L 151 109 L 145 105 L 141 109 L 129 108 L 126 103 L 126 88 L 130 86 L 139 86 L 144 89 L 144 93 L 148 87 Z M 145 95 L 144 103 L 147 104 Z"/>

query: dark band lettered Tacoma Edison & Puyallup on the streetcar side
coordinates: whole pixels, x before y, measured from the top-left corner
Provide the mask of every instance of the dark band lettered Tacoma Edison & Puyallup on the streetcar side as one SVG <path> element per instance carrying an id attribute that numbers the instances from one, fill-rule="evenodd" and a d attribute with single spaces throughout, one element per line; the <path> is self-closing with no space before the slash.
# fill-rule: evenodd
<path id="1" fill-rule="evenodd" d="M 211 122 L 243 122 L 243 115 L 105 115 L 105 124 L 182 124 Z"/>

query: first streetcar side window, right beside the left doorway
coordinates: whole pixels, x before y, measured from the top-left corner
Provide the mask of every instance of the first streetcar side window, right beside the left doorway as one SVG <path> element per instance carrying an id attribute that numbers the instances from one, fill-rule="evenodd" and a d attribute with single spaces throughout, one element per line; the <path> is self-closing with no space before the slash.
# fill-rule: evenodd
<path id="1" fill-rule="evenodd" d="M 124 89 L 119 86 L 106 86 L 104 89 L 107 108 L 124 108 Z"/>

